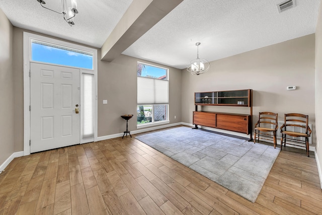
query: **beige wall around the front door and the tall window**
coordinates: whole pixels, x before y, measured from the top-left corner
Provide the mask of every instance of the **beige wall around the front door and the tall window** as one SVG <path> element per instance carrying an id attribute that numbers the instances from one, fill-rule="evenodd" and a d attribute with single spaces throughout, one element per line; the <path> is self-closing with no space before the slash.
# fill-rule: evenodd
<path id="1" fill-rule="evenodd" d="M 23 151 L 23 32 L 39 34 L 14 27 L 14 92 L 15 92 L 15 152 Z M 50 38 L 56 37 L 39 34 Z M 66 40 L 63 40 L 66 41 Z M 70 42 L 70 41 L 68 41 Z M 82 44 L 81 44 L 82 45 Z M 92 47 L 93 48 L 93 47 Z M 98 50 L 98 59 L 101 59 Z M 112 62 L 98 61 L 98 136 L 122 133 L 125 120 L 120 116 L 136 114 L 137 61 L 169 68 L 170 123 L 181 122 L 181 70 L 137 58 L 120 55 Z M 103 105 L 103 99 L 108 104 Z M 13 109 L 13 108 L 11 108 Z M 177 116 L 174 119 L 174 116 Z M 129 130 L 136 130 L 136 119 L 129 120 Z M 8 158 L 8 157 L 7 157 Z"/>

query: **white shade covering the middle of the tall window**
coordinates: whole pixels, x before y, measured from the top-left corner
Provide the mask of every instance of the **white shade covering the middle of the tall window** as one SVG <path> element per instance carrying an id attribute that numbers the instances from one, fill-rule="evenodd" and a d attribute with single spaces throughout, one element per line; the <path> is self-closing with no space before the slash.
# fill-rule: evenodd
<path id="1" fill-rule="evenodd" d="M 169 104 L 169 81 L 137 77 L 137 104 Z"/>

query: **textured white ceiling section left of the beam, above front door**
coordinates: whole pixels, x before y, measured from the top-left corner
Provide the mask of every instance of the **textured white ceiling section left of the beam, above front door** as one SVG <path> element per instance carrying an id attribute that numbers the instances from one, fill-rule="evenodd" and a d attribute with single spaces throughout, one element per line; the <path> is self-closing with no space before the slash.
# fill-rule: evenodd
<path id="1" fill-rule="evenodd" d="M 61 0 L 44 1 L 46 7 L 61 11 Z M 70 2 L 67 0 L 67 7 Z M 64 21 L 62 14 L 42 8 L 37 0 L 0 0 L 0 8 L 16 27 L 101 48 L 132 0 L 76 2 L 78 14 L 72 27 Z"/>

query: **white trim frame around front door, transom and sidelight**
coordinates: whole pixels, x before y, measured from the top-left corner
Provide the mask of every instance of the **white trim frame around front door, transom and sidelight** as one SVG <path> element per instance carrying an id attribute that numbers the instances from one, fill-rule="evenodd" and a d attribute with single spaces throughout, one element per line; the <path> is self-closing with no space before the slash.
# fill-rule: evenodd
<path id="1" fill-rule="evenodd" d="M 65 42 L 57 39 L 53 39 L 50 37 L 40 36 L 37 34 L 32 34 L 29 32 L 24 32 L 23 36 L 23 58 L 24 58 L 24 156 L 30 155 L 30 77 L 29 77 L 29 71 L 30 71 L 30 62 L 31 60 L 31 40 L 40 40 L 47 43 L 53 43 L 61 46 L 66 46 L 74 49 L 84 50 L 87 52 L 93 53 L 93 71 L 95 75 L 95 128 L 94 128 L 94 141 L 97 141 L 98 139 L 98 87 L 97 87 L 97 74 L 98 74 L 98 56 L 97 56 L 97 49 L 89 48 L 86 46 L 73 44 L 70 42 Z M 46 63 L 45 63 L 46 64 Z M 55 64 L 53 64 L 55 65 Z M 62 65 L 63 66 L 63 65 Z M 68 67 L 68 66 L 66 66 Z M 82 68 L 81 68 L 82 69 Z M 80 74 L 81 75 L 81 74 Z M 82 105 L 82 104 L 81 104 Z M 81 129 L 81 127 L 79 127 Z M 81 142 L 82 138 L 79 136 Z"/>

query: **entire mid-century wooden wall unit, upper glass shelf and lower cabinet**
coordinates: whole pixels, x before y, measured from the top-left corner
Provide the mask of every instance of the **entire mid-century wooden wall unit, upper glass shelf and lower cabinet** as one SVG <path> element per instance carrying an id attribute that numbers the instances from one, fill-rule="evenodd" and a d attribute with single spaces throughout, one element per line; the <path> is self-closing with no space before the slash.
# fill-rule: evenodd
<path id="1" fill-rule="evenodd" d="M 252 139 L 253 90 L 214 91 L 195 93 L 196 110 L 193 124 L 250 134 Z M 249 107 L 250 114 L 198 111 L 198 106 Z"/>

